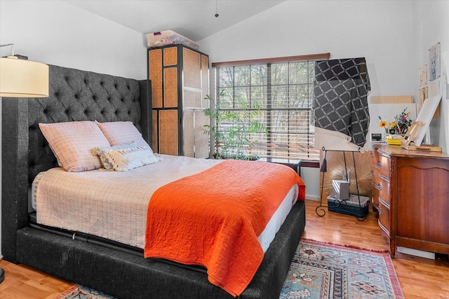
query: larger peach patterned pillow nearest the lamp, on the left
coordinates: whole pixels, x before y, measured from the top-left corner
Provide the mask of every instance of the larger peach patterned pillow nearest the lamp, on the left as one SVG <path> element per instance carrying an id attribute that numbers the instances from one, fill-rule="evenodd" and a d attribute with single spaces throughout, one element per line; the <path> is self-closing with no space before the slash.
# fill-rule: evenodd
<path id="1" fill-rule="evenodd" d="M 102 167 L 98 155 L 92 155 L 92 149 L 110 145 L 95 122 L 39 123 L 39 127 L 67 172 L 83 172 Z"/>

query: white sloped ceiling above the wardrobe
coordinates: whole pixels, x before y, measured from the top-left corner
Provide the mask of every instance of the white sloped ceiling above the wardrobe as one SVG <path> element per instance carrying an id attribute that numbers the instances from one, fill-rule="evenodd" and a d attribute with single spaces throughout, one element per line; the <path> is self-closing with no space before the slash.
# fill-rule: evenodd
<path id="1" fill-rule="evenodd" d="M 142 34 L 173 30 L 199 41 L 285 0 L 64 1 Z"/>

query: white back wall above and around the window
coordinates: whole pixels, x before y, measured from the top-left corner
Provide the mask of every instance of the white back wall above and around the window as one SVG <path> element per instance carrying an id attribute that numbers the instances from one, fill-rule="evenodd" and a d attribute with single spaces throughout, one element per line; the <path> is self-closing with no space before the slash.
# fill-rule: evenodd
<path id="1" fill-rule="evenodd" d="M 331 59 L 366 57 L 371 95 L 416 99 L 422 59 L 416 40 L 431 39 L 424 49 L 437 41 L 447 47 L 448 13 L 443 8 L 449 1 L 417 2 L 287 0 L 198 43 L 211 62 L 327 52 Z M 445 30 L 434 15 L 445 16 Z M 419 35 L 416 28 L 421 26 L 430 36 Z M 431 28 L 438 29 L 427 32 Z M 302 174 L 307 197 L 319 198 L 319 169 Z"/>

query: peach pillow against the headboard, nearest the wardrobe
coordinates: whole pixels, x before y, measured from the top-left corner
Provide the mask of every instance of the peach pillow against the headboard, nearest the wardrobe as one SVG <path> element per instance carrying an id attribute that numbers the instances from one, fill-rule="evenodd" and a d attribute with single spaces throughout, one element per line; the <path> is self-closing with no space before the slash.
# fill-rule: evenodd
<path id="1" fill-rule="evenodd" d="M 99 123 L 95 120 L 98 127 L 102 130 L 103 134 L 105 134 L 109 144 L 112 146 L 117 146 L 119 144 L 129 144 L 132 141 L 135 141 L 136 144 L 140 147 L 150 146 L 147 144 L 147 141 L 143 139 L 142 134 L 139 132 L 138 128 L 135 127 L 133 122 L 130 121 L 113 121 L 109 123 Z"/>

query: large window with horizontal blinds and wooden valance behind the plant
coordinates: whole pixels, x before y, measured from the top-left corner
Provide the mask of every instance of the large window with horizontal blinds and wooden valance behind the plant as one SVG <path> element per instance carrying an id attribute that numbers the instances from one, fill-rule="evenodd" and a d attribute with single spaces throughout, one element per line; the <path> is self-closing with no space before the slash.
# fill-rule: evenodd
<path id="1" fill-rule="evenodd" d="M 267 160 L 319 160 L 311 127 L 314 60 L 323 55 L 281 57 L 268 60 L 213 63 L 215 100 L 223 111 L 253 111 L 264 132 L 250 134 L 247 155 Z M 225 130 L 229 123 L 217 123 Z M 217 144 L 223 146 L 223 144 Z"/>

